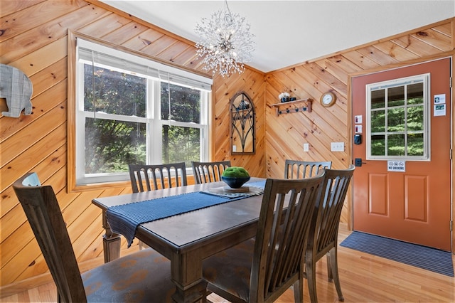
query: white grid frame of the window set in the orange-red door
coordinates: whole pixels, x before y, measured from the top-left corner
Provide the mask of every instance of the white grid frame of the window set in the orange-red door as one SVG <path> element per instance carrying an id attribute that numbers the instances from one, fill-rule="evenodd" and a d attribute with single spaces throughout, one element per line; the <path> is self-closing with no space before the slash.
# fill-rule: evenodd
<path id="1" fill-rule="evenodd" d="M 372 105 L 371 105 L 371 92 L 375 89 L 379 89 L 380 87 L 399 87 L 400 85 L 410 85 L 414 83 L 418 83 L 422 81 L 423 83 L 423 140 L 424 140 L 424 152 L 422 156 L 396 156 L 396 155 L 391 155 L 391 156 L 378 156 L 378 155 L 372 155 L 371 154 L 371 137 L 372 137 L 372 132 L 371 132 L 371 114 L 372 114 Z M 405 77 L 405 78 L 399 78 L 399 79 L 394 79 L 394 80 L 386 80 L 386 81 L 381 81 L 378 83 L 371 83 L 365 86 L 365 93 L 366 93 L 366 159 L 367 160 L 379 160 L 379 161 L 384 161 L 384 160 L 403 160 L 403 161 L 431 161 L 431 136 L 429 135 L 430 132 L 430 120 L 431 120 L 431 100 L 430 100 L 430 74 L 425 73 L 422 75 L 414 75 L 410 77 Z M 404 108 L 407 108 L 408 105 L 403 105 Z M 387 100 L 385 100 L 385 107 L 384 110 L 387 111 Z M 406 111 L 405 111 L 406 112 Z M 387 117 L 387 116 L 386 116 Z M 385 136 L 387 136 L 387 129 L 384 130 L 383 132 Z M 410 134 L 412 132 L 407 132 L 407 129 L 405 129 L 404 134 Z M 406 136 L 405 136 L 406 137 Z M 387 146 L 385 147 L 387 151 Z M 407 148 L 407 144 L 405 144 L 405 149 Z"/>

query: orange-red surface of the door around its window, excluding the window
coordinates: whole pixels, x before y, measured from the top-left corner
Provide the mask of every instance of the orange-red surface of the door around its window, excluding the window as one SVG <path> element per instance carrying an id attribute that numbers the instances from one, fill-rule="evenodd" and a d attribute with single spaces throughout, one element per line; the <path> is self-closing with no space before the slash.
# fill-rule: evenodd
<path id="1" fill-rule="evenodd" d="M 366 160 L 366 133 L 354 144 L 354 230 L 451 250 L 451 59 L 444 58 L 352 79 L 353 124 L 365 130 L 366 85 L 430 73 L 430 161 L 405 160 L 405 171 L 387 171 L 387 160 Z M 445 94 L 446 113 L 435 115 L 434 95 Z M 361 115 L 358 123 L 355 116 Z M 354 134 L 353 134 L 354 135 Z"/>

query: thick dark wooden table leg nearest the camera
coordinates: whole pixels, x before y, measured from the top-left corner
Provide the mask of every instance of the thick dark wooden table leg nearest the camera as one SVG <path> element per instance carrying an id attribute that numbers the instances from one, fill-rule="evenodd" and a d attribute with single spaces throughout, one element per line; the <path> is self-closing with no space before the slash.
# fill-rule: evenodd
<path id="1" fill-rule="evenodd" d="M 173 302 L 205 302 L 207 282 L 202 278 L 202 258 L 197 250 L 173 254 L 171 278 L 176 284 Z"/>

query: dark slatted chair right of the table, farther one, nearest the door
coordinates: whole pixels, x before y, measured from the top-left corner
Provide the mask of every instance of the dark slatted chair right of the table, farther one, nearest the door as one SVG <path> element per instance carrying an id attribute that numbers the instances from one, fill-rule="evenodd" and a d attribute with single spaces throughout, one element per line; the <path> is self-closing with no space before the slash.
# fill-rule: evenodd
<path id="1" fill-rule="evenodd" d="M 321 200 L 316 203 L 316 211 L 309 231 L 309 242 L 305 252 L 305 277 L 311 302 L 318 302 L 316 294 L 316 262 L 327 256 L 328 281 L 333 281 L 338 300 L 344 301 L 338 275 L 338 226 L 346 193 L 353 177 L 355 166 L 348 169 L 326 169 Z"/>

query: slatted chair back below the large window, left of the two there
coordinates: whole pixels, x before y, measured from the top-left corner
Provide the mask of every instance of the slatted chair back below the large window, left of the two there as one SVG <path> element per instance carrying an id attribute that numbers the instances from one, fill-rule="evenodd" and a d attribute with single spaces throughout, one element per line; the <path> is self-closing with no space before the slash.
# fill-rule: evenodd
<path id="1" fill-rule="evenodd" d="M 128 169 L 133 193 L 188 185 L 185 162 L 156 165 L 129 164 Z"/>

